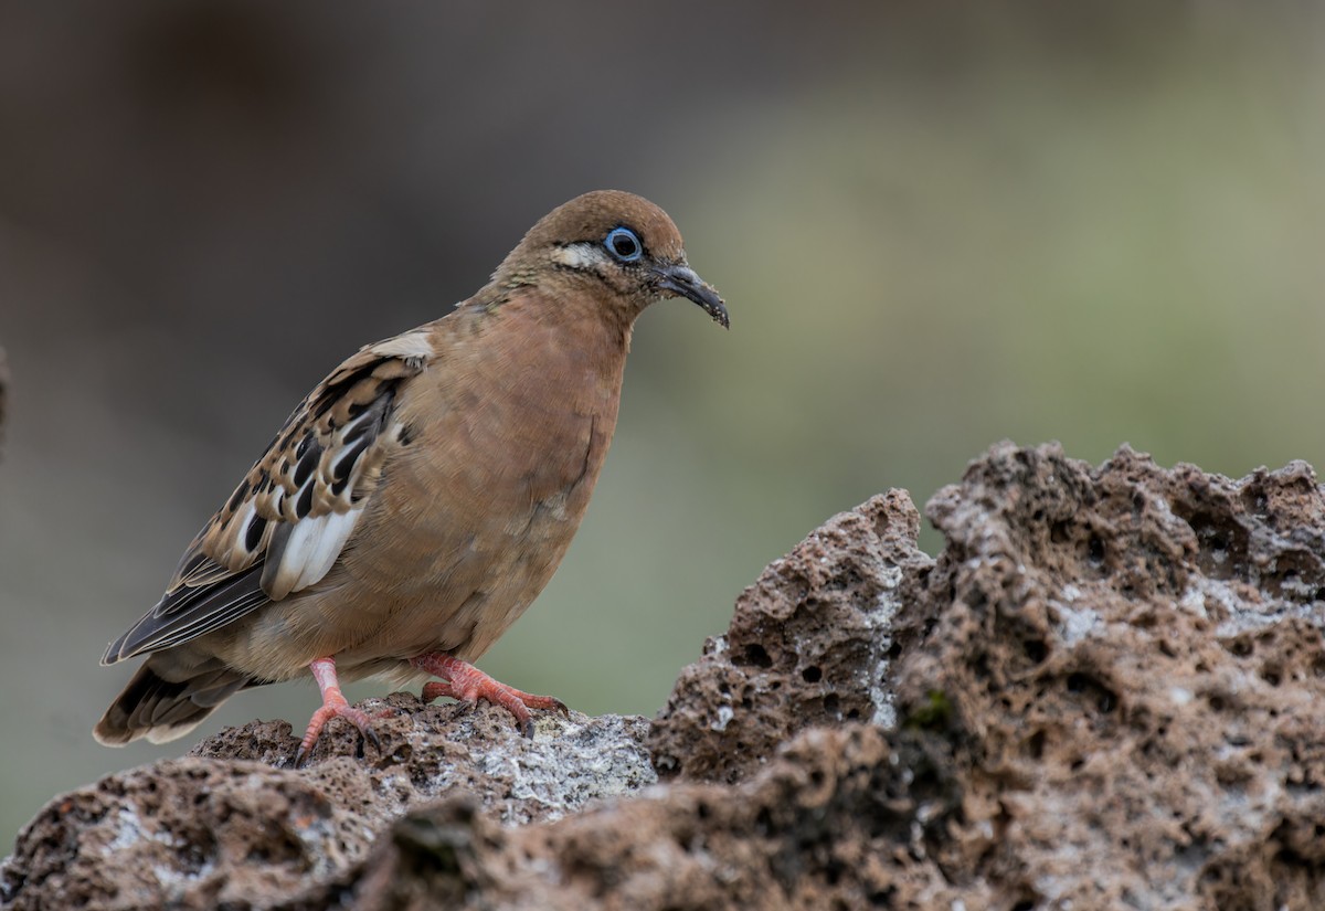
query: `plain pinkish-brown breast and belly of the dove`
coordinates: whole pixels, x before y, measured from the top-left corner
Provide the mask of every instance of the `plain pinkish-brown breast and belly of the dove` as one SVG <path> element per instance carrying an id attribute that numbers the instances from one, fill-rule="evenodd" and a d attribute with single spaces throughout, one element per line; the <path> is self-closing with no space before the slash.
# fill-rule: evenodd
<path id="1" fill-rule="evenodd" d="M 356 528 L 371 546 L 351 548 L 344 571 L 371 595 L 360 618 L 407 650 L 436 636 L 427 647 L 481 654 L 551 579 L 588 506 L 620 368 L 555 334 L 521 342 L 457 348 L 398 405 L 409 442 L 387 459 Z"/>

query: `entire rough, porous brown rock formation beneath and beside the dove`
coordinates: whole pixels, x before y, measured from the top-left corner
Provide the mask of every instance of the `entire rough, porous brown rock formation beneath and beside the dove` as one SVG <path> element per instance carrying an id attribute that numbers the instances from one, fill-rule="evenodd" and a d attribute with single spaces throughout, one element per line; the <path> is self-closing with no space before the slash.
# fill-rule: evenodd
<path id="1" fill-rule="evenodd" d="M 1325 493 L 995 446 L 833 518 L 648 730 L 392 696 L 57 797 L 5 907 L 1321 908 Z M 380 704 L 368 703 L 370 711 Z M 647 743 L 664 783 L 649 787 Z"/>

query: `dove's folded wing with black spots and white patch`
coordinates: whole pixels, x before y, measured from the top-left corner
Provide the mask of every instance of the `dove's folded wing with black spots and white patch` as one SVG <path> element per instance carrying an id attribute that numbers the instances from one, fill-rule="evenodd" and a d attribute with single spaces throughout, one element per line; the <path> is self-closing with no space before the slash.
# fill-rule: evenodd
<path id="1" fill-rule="evenodd" d="M 401 442 L 400 387 L 433 356 L 415 330 L 362 348 L 309 393 L 102 663 L 182 645 L 326 576 Z"/>

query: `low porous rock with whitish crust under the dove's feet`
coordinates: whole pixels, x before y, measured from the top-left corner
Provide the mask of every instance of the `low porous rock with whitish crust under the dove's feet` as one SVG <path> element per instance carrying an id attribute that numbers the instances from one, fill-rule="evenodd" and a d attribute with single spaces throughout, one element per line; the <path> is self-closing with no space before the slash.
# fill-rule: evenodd
<path id="1" fill-rule="evenodd" d="M 0 902 L 13 908 L 270 907 L 344 871 L 411 809 L 464 793 L 509 825 L 553 820 L 656 780 L 648 722 L 542 715 L 533 739 L 504 710 L 360 703 L 382 752 L 329 726 L 310 761 L 286 722 L 223 731 L 184 759 L 57 797 L 19 836 Z M 347 727 L 347 726 L 346 726 Z"/>

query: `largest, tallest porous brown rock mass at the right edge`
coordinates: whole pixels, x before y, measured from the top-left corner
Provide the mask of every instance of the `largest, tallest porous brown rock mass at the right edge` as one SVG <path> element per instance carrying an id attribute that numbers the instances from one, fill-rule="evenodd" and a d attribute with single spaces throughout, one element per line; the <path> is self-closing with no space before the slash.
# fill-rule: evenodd
<path id="1" fill-rule="evenodd" d="M 959 732 L 949 862 L 1027 908 L 1325 907 L 1310 466 L 1002 444 L 928 514 L 946 547 L 893 686 Z"/>

